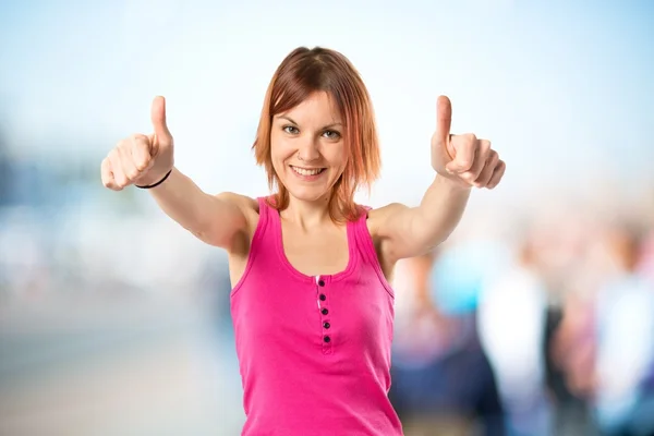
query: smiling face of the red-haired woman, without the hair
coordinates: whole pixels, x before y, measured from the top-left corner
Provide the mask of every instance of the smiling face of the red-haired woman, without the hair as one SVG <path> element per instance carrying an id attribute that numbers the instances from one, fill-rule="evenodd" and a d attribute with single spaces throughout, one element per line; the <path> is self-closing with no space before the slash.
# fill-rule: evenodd
<path id="1" fill-rule="evenodd" d="M 344 125 L 327 93 L 272 119 L 270 155 L 279 181 L 304 202 L 326 199 L 348 162 Z"/>

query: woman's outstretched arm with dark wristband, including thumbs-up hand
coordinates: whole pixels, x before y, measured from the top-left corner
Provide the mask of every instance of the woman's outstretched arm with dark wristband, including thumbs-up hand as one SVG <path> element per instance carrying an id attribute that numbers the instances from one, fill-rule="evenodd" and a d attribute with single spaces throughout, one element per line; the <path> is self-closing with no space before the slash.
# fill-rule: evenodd
<path id="1" fill-rule="evenodd" d="M 102 183 L 113 191 L 132 184 L 147 186 L 170 171 L 166 181 L 148 190 L 159 207 L 202 241 L 230 250 L 237 237 L 247 231 L 247 209 L 254 208 L 254 201 L 232 193 L 207 194 L 174 168 L 165 105 L 162 97 L 153 102 L 154 134 L 119 142 L 102 160 Z"/>

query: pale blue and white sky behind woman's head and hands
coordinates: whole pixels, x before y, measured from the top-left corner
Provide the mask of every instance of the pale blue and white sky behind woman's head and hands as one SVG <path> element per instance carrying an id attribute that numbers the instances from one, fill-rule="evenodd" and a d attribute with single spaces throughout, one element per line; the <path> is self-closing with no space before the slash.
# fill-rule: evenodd
<path id="1" fill-rule="evenodd" d="M 270 75 L 294 47 L 323 45 L 353 61 L 373 96 L 379 201 L 415 202 L 421 190 L 405 187 L 429 182 L 438 94 L 452 100 L 453 130 L 491 138 L 506 158 L 507 194 L 654 173 L 651 3 L 234 3 L 0 0 L 10 146 L 99 159 L 149 131 L 162 94 L 178 166 L 209 191 L 254 195 L 265 181 L 250 144 Z"/>

